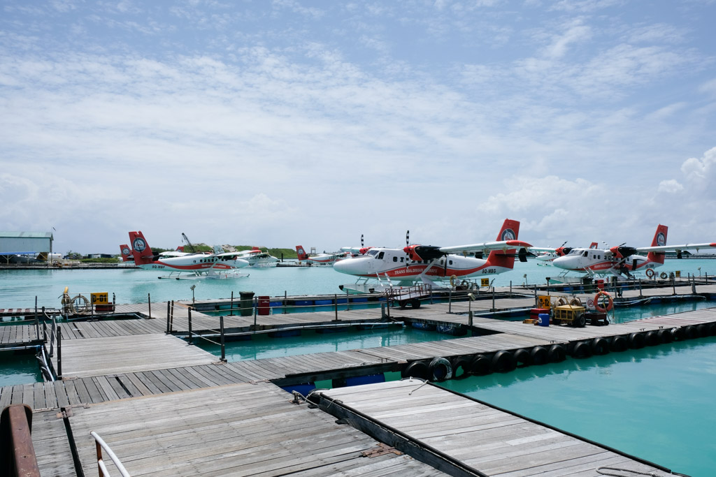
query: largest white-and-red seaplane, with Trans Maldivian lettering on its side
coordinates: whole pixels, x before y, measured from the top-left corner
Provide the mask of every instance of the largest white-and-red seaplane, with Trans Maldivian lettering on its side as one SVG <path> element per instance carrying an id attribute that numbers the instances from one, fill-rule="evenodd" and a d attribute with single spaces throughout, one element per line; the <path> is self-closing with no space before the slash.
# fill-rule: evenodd
<path id="1" fill-rule="evenodd" d="M 455 285 L 456 280 L 460 282 L 468 277 L 508 272 L 513 269 L 515 257 L 526 262 L 531 245 L 517 239 L 519 228 L 520 222 L 507 219 L 497 241 L 453 247 L 410 245 L 408 231 L 405 248 L 371 247 L 364 255 L 336 262 L 333 268 L 359 277 L 355 284 L 340 286 L 349 292 L 374 292 L 414 285 L 417 281 L 442 287 L 436 282 L 450 280 L 451 285 Z M 482 258 L 483 253 L 488 253 L 487 260 Z M 371 279 L 378 283 L 369 282 Z"/>

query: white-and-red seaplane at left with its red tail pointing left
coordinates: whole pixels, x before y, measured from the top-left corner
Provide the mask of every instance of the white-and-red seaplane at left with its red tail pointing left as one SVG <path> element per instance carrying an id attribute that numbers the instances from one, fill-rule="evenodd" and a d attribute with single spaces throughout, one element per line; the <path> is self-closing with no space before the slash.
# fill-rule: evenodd
<path id="1" fill-rule="evenodd" d="M 235 272 L 234 269 L 247 267 L 248 262 L 239 257 L 238 252 L 223 252 L 221 247 L 214 247 L 211 253 L 187 253 L 184 255 L 165 256 L 155 255 L 141 231 L 129 232 L 132 244 L 132 256 L 135 265 L 143 270 L 168 270 L 167 278 L 235 278 L 246 277 L 246 273 Z M 188 276 L 187 276 L 188 275 Z M 162 277 L 160 277 L 162 278 Z"/>

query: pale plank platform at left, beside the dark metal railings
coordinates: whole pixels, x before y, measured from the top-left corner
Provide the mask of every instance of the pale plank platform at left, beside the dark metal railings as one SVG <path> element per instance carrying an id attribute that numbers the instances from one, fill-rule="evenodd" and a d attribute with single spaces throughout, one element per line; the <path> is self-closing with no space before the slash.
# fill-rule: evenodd
<path id="1" fill-rule="evenodd" d="M 216 356 L 171 335 L 113 336 L 62 343 L 62 376 L 95 376 L 209 364 Z M 57 370 L 57 353 L 52 357 Z"/>

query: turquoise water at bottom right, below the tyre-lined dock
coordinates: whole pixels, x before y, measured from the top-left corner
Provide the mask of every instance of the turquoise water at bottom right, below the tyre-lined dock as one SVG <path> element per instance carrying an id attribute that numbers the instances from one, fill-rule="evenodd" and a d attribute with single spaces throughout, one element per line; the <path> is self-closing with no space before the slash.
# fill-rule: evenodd
<path id="1" fill-rule="evenodd" d="M 693 477 L 716 469 L 716 338 L 440 383 Z"/>

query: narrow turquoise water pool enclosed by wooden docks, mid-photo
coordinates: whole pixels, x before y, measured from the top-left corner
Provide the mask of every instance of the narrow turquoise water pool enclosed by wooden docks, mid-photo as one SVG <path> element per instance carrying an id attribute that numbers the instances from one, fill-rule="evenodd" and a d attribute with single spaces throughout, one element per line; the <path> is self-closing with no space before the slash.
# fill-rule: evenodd
<path id="1" fill-rule="evenodd" d="M 280 356 L 329 353 L 331 351 L 358 350 L 378 346 L 397 346 L 423 341 L 449 340 L 451 335 L 434 331 L 415 330 L 410 327 L 377 328 L 374 330 L 344 330 L 336 333 L 317 333 L 304 330 L 300 336 L 270 338 L 258 335 L 252 340 L 226 343 L 226 360 L 243 361 Z M 195 340 L 195 344 L 216 356 L 221 356 L 218 345 L 206 340 Z"/>

